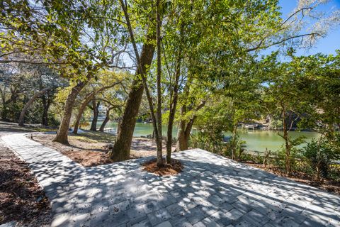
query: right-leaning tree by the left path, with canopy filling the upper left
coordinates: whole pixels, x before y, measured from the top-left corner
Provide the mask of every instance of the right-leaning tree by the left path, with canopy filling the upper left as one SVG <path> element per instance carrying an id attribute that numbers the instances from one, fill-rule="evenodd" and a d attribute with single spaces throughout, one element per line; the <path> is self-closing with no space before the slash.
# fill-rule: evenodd
<path id="1" fill-rule="evenodd" d="M 114 4 L 110 6 L 115 11 Z M 117 23 L 103 18 L 108 4 L 91 0 L 8 1 L 1 4 L 0 9 L 3 15 L 7 15 L 0 22 L 5 31 L 0 37 L 3 53 L 0 62 L 48 65 L 75 84 L 65 102 L 60 128 L 54 139 L 68 143 L 69 121 L 77 95 L 98 70 L 110 65 L 109 52 L 116 50 L 115 39 L 113 43 L 110 40 L 117 33 Z M 25 53 L 26 57 L 12 57 L 18 53 Z"/>

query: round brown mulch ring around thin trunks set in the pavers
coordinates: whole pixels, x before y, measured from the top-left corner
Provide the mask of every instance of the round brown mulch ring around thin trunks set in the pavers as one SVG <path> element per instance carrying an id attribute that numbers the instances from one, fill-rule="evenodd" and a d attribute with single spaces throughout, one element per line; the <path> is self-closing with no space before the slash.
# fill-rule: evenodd
<path id="1" fill-rule="evenodd" d="M 179 160 L 171 159 L 171 163 L 165 163 L 164 166 L 157 166 L 157 159 L 154 158 L 142 164 L 143 170 L 147 172 L 152 172 L 155 175 L 159 176 L 169 176 L 176 175 L 183 170 L 183 165 Z"/>

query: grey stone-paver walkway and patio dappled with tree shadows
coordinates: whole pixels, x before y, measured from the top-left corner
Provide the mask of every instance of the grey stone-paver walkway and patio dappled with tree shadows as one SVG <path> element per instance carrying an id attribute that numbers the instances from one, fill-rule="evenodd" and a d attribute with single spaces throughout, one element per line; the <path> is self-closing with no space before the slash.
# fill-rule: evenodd
<path id="1" fill-rule="evenodd" d="M 173 177 L 146 159 L 84 168 L 24 134 L 2 138 L 26 160 L 52 202 L 52 226 L 340 226 L 340 196 L 204 150 L 174 153 Z"/>

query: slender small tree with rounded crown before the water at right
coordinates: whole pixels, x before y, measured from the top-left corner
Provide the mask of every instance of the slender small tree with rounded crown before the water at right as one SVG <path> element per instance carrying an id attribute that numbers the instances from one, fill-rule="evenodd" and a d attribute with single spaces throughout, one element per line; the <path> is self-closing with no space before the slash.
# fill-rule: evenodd
<path id="1" fill-rule="evenodd" d="M 272 63 L 266 74 L 268 80 L 264 89 L 264 102 L 271 118 L 279 119 L 282 125 L 276 126 L 278 135 L 285 140 L 285 170 L 290 175 L 291 152 L 302 138 L 292 140 L 289 131 L 297 128 L 297 122 L 305 118 L 309 111 L 307 101 L 309 78 L 300 67 L 300 58 L 293 57 L 290 62 L 276 62 L 276 55 L 268 57 Z M 268 65 L 270 65 L 269 63 Z"/>

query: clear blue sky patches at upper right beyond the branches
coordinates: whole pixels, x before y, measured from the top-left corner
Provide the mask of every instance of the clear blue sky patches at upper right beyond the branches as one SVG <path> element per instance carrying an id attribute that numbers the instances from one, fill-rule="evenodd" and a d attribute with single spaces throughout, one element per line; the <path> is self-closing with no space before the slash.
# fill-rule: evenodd
<path id="1" fill-rule="evenodd" d="M 280 0 L 280 6 L 282 7 L 283 18 L 289 15 L 295 6 L 297 0 Z M 340 0 L 331 0 L 329 3 L 319 6 L 322 11 L 330 12 L 334 9 L 340 9 Z M 313 55 L 317 52 L 323 54 L 334 54 L 336 49 L 340 49 L 340 26 L 334 28 L 329 32 L 327 37 L 320 39 L 316 45 L 310 50 L 298 50 L 298 55 Z"/>

